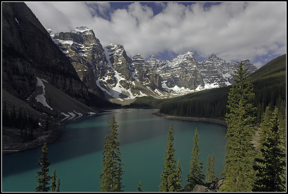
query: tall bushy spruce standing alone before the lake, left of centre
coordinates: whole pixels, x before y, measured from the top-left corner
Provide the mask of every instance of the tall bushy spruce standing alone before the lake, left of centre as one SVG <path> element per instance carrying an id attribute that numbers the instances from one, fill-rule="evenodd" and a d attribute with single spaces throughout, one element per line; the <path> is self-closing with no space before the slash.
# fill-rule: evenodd
<path id="1" fill-rule="evenodd" d="M 117 122 L 115 121 L 114 115 L 112 120 L 109 122 L 109 135 L 105 137 L 105 145 L 103 154 L 103 170 L 99 175 L 102 178 L 100 184 L 101 192 L 120 192 L 122 190 L 122 177 L 124 173 L 122 167 L 124 164 L 121 163 L 121 153 L 119 150 L 119 142 L 117 138 Z"/>

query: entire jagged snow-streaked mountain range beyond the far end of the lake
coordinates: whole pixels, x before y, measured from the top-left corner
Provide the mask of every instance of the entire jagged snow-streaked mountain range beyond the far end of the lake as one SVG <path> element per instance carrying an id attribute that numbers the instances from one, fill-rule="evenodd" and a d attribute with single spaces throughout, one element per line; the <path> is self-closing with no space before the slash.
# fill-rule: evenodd
<path id="1" fill-rule="evenodd" d="M 215 54 L 198 62 L 191 51 L 167 61 L 155 55 L 145 61 L 140 54 L 127 56 L 123 45 L 103 47 L 93 30 L 85 26 L 70 32 L 47 31 L 91 91 L 103 91 L 107 99 L 122 104 L 138 96 L 170 98 L 230 85 L 240 63 L 227 62 Z M 251 73 L 257 70 L 249 60 L 243 63 Z"/>

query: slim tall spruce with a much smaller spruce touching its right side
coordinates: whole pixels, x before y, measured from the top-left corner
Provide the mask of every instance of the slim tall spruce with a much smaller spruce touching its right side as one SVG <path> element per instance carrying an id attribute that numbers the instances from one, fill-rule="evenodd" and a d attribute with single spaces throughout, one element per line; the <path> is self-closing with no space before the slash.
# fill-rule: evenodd
<path id="1" fill-rule="evenodd" d="M 176 192 L 180 191 L 179 188 L 179 179 L 177 176 L 177 168 L 175 166 L 175 148 L 173 145 L 174 137 L 173 137 L 173 127 L 172 122 L 170 123 L 170 127 L 167 135 L 168 144 L 166 146 L 165 157 L 164 157 L 164 171 L 160 175 L 162 182 L 160 183 L 159 191 L 160 192 Z"/>

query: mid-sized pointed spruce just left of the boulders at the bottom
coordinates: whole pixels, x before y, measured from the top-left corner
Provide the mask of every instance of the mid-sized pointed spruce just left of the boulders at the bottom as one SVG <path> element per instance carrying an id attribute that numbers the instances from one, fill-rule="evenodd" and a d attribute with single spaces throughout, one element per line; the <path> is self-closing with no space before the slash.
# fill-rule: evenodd
<path id="1" fill-rule="evenodd" d="M 188 184 L 185 186 L 186 191 L 192 191 L 196 185 L 204 185 L 204 174 L 202 174 L 202 165 L 200 160 L 200 150 L 198 147 L 199 143 L 199 135 L 197 128 L 195 129 L 195 136 L 193 138 L 194 141 L 194 147 L 192 149 L 192 156 L 190 161 L 190 170 L 188 174 Z"/>

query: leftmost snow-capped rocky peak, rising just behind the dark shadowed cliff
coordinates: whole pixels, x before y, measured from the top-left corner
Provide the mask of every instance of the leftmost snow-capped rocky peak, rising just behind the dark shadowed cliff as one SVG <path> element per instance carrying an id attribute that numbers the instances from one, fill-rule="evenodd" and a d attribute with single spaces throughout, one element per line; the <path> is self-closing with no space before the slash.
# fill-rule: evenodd
<path id="1" fill-rule="evenodd" d="M 112 71 L 107 67 L 104 49 L 94 32 L 85 27 L 76 28 L 71 32 L 56 33 L 51 30 L 48 32 L 62 52 L 69 56 L 79 78 L 88 89 L 103 96 L 96 80 Z"/>

